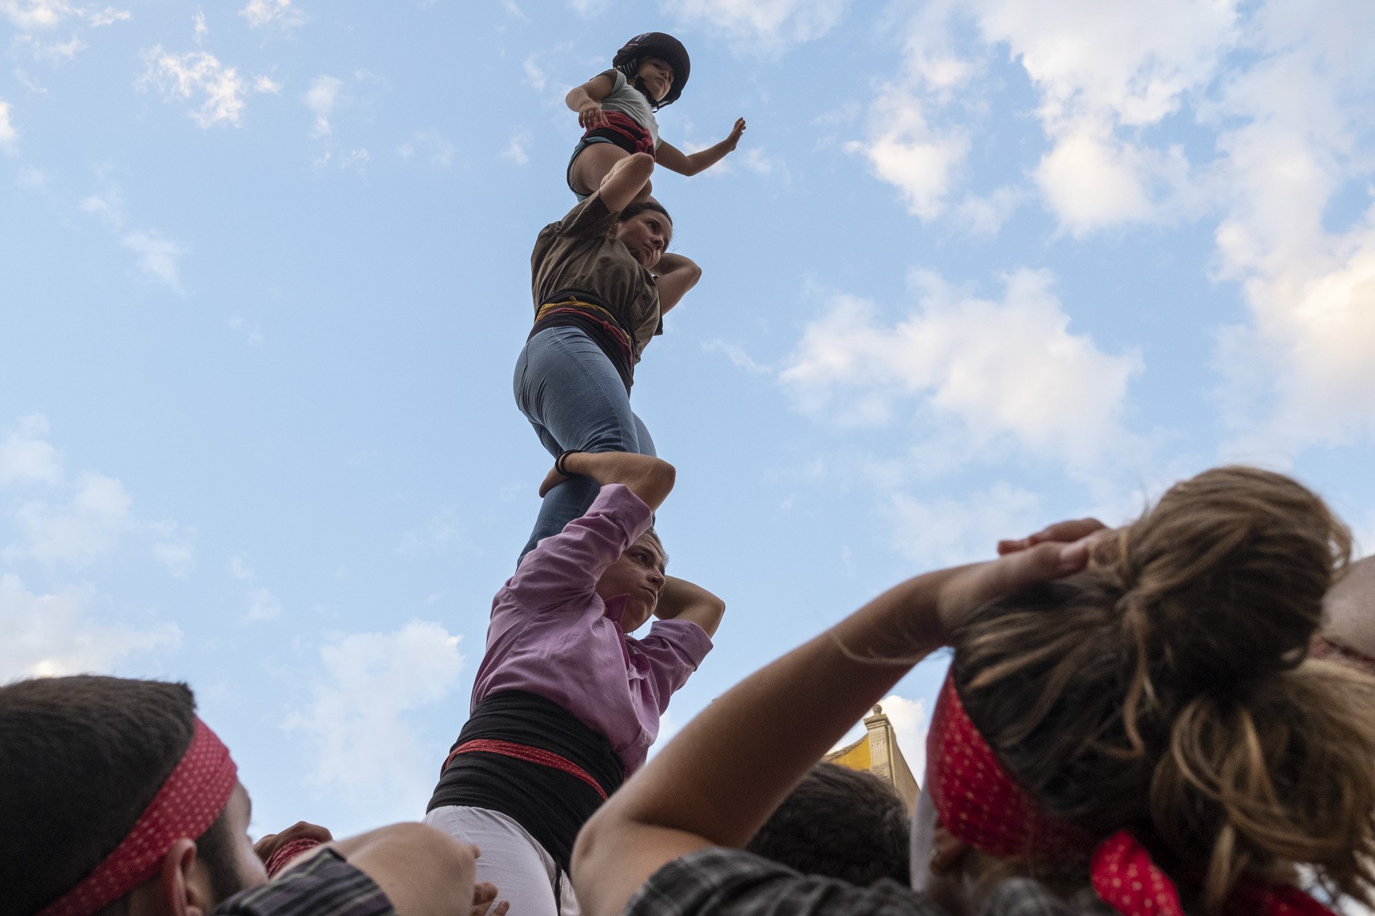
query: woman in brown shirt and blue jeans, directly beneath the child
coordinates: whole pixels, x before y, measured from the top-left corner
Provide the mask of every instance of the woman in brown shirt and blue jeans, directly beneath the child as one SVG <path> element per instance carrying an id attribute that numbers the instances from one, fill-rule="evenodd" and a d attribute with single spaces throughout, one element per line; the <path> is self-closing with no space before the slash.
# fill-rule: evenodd
<path id="1" fill-rule="evenodd" d="M 620 160 L 597 193 L 535 239 L 535 326 L 516 360 L 514 391 L 556 458 L 569 450 L 654 454 L 630 407 L 635 364 L 701 268 L 664 253 L 674 224 L 657 201 L 631 204 L 653 171 L 648 153 Z M 520 556 L 580 517 L 595 497 L 587 477 L 554 487 Z"/>

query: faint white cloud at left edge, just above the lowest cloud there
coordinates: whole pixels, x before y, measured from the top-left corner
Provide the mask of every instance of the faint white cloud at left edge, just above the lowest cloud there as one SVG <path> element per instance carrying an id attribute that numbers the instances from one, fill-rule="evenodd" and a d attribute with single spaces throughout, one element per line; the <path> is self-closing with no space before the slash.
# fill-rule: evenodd
<path id="1" fill-rule="evenodd" d="M 8 560 L 30 557 L 45 564 L 82 567 L 111 553 L 133 531 L 133 499 L 114 477 L 85 472 L 69 499 L 23 502 L 15 513 L 18 541 Z"/>

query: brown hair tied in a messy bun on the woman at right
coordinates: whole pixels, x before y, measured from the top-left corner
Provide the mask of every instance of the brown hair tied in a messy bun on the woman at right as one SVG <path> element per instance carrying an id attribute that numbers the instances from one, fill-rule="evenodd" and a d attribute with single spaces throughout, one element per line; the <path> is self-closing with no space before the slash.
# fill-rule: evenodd
<path id="1" fill-rule="evenodd" d="M 1368 906 L 1375 678 L 1308 659 L 1350 546 L 1290 477 L 1209 470 L 1086 571 L 983 608 L 954 634 L 956 686 L 1024 789 L 1132 829 L 1187 906 L 1301 868 Z"/>

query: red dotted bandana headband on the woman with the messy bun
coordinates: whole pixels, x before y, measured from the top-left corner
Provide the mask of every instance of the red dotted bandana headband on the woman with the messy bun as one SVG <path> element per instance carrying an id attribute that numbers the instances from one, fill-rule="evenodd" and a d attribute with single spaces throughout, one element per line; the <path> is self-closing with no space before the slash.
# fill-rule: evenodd
<path id="1" fill-rule="evenodd" d="M 927 784 L 940 824 L 958 840 L 1019 862 L 1089 860 L 1093 888 L 1123 916 L 1185 916 L 1174 882 L 1128 831 L 1099 840 L 1030 798 L 964 711 L 946 675 L 927 733 Z M 1231 916 L 1335 916 L 1287 884 L 1243 882 Z"/>

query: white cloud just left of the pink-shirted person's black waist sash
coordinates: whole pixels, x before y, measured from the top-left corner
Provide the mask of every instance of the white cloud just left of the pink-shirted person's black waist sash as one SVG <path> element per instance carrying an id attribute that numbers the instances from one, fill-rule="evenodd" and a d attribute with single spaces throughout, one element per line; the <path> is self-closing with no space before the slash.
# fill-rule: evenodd
<path id="1" fill-rule="evenodd" d="M 459 640 L 439 623 L 411 620 L 326 644 L 309 701 L 283 723 L 315 745 L 309 781 L 355 798 L 385 792 L 395 810 L 424 810 L 440 761 L 422 745 L 410 714 L 458 685 Z"/>

